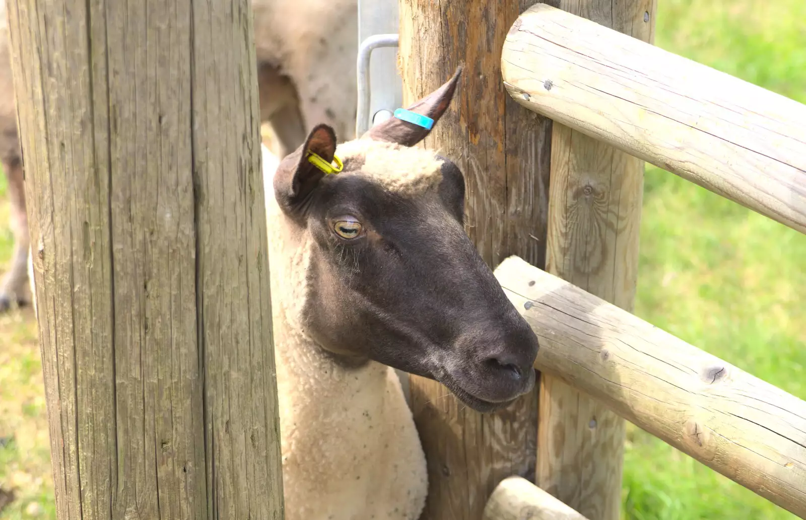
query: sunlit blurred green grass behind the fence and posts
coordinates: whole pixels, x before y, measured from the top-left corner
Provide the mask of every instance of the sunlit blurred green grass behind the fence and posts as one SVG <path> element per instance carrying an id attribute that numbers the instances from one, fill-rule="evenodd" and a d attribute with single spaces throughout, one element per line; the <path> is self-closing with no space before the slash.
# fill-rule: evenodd
<path id="1" fill-rule="evenodd" d="M 806 102 L 804 0 L 659 0 L 655 44 Z M 10 260 L 0 175 L 0 270 Z M 806 236 L 647 167 L 636 314 L 806 398 Z M 55 518 L 30 309 L 0 316 L 2 520 Z M 628 425 L 623 518 L 794 519 Z"/>

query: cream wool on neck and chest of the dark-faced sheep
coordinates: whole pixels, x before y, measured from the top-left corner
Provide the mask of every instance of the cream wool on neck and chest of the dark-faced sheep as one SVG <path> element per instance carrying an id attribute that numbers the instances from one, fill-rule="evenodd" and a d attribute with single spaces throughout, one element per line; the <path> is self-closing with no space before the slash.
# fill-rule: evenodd
<path id="1" fill-rule="evenodd" d="M 343 150 L 350 149 L 347 145 Z M 301 328 L 312 240 L 293 232 L 263 148 L 277 386 L 287 520 L 418 518 L 426 459 L 393 369 L 343 369 Z"/>

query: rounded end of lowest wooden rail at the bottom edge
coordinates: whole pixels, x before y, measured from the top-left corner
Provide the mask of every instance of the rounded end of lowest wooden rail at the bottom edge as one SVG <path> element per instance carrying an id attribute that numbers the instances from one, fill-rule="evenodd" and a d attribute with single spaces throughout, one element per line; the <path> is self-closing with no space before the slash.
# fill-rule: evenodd
<path id="1" fill-rule="evenodd" d="M 484 520 L 587 520 L 522 477 L 501 481 L 484 507 Z"/>

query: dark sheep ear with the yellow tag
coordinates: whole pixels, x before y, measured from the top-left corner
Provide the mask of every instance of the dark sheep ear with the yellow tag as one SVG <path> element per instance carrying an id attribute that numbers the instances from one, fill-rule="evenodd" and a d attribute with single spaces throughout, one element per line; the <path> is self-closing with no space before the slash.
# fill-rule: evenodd
<path id="1" fill-rule="evenodd" d="M 336 134 L 330 126 L 317 125 L 308 134 L 305 144 L 286 155 L 274 174 L 274 193 L 277 204 L 286 213 L 300 213 L 311 192 L 325 173 L 308 160 L 308 151 L 314 152 L 327 163 L 336 153 Z"/>

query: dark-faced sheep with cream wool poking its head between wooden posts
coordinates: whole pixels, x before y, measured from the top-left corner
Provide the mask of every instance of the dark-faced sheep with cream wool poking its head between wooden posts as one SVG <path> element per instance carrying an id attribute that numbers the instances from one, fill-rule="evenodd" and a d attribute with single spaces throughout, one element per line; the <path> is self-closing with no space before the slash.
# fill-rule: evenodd
<path id="1" fill-rule="evenodd" d="M 409 109 L 438 122 L 458 78 Z M 419 517 L 426 460 L 394 369 L 482 412 L 534 386 L 537 337 L 464 232 L 462 172 L 414 147 L 428 133 L 391 118 L 337 147 L 318 125 L 264 155 L 289 520 Z"/>

